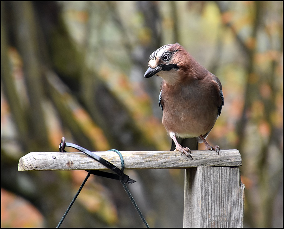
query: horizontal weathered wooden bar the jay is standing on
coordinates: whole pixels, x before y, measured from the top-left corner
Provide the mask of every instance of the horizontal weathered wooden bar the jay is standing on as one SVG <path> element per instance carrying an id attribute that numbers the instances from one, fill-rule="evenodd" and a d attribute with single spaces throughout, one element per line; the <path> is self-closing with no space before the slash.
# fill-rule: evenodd
<path id="1" fill-rule="evenodd" d="M 121 167 L 120 158 L 113 151 L 94 152 Z M 191 151 L 193 160 L 177 151 L 122 151 L 125 169 L 180 169 L 197 166 L 241 166 L 238 150 Z M 107 169 L 82 152 L 31 152 L 20 158 L 18 171 L 27 170 L 95 170 Z"/>

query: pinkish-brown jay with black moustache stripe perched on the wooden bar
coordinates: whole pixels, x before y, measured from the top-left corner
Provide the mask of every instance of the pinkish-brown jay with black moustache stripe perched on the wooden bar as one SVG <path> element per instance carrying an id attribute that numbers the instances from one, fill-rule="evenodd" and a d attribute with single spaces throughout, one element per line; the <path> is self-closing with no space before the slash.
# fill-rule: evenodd
<path id="1" fill-rule="evenodd" d="M 196 138 L 207 150 L 219 154 L 219 146 L 205 140 L 224 106 L 221 81 L 198 63 L 179 43 L 167 44 L 154 51 L 148 60 L 144 78 L 154 75 L 163 80 L 159 106 L 162 123 L 175 144 L 175 150 L 190 157 L 189 147 L 181 146 L 177 137 Z"/>

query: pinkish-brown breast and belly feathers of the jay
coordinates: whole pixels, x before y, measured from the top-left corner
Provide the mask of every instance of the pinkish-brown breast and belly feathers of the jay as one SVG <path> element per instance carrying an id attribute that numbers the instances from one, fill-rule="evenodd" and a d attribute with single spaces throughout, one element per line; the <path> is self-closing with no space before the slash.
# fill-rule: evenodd
<path id="1" fill-rule="evenodd" d="M 211 130 L 218 117 L 217 106 L 198 87 L 162 86 L 163 125 L 180 137 L 197 137 Z"/>

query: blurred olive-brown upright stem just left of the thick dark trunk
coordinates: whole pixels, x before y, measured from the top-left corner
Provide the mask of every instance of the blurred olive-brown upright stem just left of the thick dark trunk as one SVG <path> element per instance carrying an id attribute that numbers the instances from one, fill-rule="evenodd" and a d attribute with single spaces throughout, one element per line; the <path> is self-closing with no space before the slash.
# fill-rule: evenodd
<path id="1" fill-rule="evenodd" d="M 41 149 L 48 149 L 48 133 L 43 115 L 43 85 L 40 68 L 36 19 L 31 2 L 11 2 L 16 44 L 23 59 L 23 71 L 30 102 L 28 121 L 30 135 L 40 142 Z"/>

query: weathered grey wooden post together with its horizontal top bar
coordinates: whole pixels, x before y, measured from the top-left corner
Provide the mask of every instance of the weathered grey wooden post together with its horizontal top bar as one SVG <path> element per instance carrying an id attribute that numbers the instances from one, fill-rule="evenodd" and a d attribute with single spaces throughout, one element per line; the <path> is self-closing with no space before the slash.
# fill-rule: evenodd
<path id="1" fill-rule="evenodd" d="M 94 153 L 121 167 L 117 153 Z M 184 227 L 243 227 L 244 185 L 239 169 L 231 168 L 241 166 L 238 150 L 191 151 L 192 160 L 177 151 L 121 154 L 125 169 L 185 169 Z M 82 152 L 31 152 L 18 164 L 18 171 L 98 169 L 107 168 Z"/>

